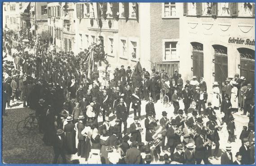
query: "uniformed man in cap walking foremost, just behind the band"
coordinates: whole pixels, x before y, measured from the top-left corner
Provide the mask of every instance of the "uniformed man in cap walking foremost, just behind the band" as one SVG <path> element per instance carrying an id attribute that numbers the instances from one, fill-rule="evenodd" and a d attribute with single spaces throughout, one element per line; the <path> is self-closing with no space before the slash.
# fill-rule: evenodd
<path id="1" fill-rule="evenodd" d="M 115 107 L 116 110 L 116 118 L 120 119 L 120 128 L 122 128 L 122 123 L 124 123 L 124 134 L 126 134 L 127 130 L 127 114 L 126 114 L 126 106 L 124 105 L 124 99 L 120 98 L 119 104 Z"/>

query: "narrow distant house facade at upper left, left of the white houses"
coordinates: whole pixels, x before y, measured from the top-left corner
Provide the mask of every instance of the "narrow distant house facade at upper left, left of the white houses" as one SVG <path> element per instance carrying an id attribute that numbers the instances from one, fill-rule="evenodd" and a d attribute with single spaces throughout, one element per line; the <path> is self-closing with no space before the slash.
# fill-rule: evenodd
<path id="1" fill-rule="evenodd" d="M 47 2 L 31 2 L 30 24 L 32 35 L 48 31 Z"/>

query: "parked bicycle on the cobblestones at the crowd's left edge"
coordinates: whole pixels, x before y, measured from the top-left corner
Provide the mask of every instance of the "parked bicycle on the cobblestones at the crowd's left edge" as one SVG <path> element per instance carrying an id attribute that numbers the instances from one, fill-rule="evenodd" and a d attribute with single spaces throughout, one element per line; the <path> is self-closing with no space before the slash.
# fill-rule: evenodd
<path id="1" fill-rule="evenodd" d="M 35 113 L 29 114 L 24 120 L 20 121 L 17 124 L 17 131 L 21 135 L 28 134 L 30 131 L 38 128 L 38 119 L 35 116 Z"/>

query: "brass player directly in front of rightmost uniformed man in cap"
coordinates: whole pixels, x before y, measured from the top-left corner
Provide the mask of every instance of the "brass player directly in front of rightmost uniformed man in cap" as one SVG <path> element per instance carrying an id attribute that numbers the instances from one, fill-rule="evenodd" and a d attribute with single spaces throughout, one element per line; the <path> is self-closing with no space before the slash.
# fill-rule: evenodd
<path id="1" fill-rule="evenodd" d="M 152 136 L 154 135 L 154 128 L 157 126 L 156 120 L 152 118 L 152 111 L 148 112 L 148 118 L 145 119 L 145 128 L 146 128 L 146 141 L 150 142 L 153 140 Z"/>

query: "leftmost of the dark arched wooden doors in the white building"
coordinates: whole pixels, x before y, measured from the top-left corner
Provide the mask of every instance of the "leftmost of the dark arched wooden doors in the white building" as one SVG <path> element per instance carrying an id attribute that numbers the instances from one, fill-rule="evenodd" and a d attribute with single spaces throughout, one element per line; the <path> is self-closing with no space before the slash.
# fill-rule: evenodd
<path id="1" fill-rule="evenodd" d="M 200 78 L 203 77 L 203 52 L 193 51 L 193 76 Z"/>

